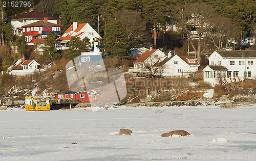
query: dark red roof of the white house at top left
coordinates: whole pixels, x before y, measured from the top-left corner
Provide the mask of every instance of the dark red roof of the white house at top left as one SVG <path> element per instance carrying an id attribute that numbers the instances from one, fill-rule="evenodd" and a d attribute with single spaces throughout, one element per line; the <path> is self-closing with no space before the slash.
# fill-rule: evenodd
<path id="1" fill-rule="evenodd" d="M 23 18 L 23 19 L 32 19 L 32 18 L 44 19 L 45 17 L 47 17 L 48 19 L 58 19 L 57 17 L 53 17 L 53 16 L 50 16 L 50 15 L 47 15 L 47 14 L 44 14 L 44 13 L 41 13 L 41 12 L 37 12 L 37 11 L 27 12 L 27 13 L 24 13 L 22 15 L 11 18 L 11 19 L 20 19 L 20 18 Z"/>

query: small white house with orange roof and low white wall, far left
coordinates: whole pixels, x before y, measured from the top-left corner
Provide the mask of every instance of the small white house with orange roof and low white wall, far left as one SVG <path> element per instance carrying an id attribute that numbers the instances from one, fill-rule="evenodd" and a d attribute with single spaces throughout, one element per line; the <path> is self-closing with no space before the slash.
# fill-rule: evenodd
<path id="1" fill-rule="evenodd" d="M 22 70 L 12 70 L 10 74 L 12 75 L 29 75 L 35 71 L 39 71 L 40 64 L 37 63 L 35 60 L 26 60 L 20 66 L 22 66 Z"/>

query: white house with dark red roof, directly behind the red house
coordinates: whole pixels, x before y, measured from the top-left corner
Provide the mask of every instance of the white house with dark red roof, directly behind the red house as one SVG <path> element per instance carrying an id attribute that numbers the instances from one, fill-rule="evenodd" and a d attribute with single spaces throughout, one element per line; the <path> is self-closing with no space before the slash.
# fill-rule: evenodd
<path id="1" fill-rule="evenodd" d="M 54 24 L 59 23 L 59 19 L 57 17 L 40 13 L 40 12 L 34 11 L 33 9 L 30 9 L 29 12 L 27 13 L 11 18 L 10 21 L 14 28 L 14 35 L 18 35 L 18 36 L 24 35 L 22 26 L 25 26 L 37 21 L 44 21 L 45 18 L 47 18 L 48 22 L 50 23 L 54 23 Z"/>

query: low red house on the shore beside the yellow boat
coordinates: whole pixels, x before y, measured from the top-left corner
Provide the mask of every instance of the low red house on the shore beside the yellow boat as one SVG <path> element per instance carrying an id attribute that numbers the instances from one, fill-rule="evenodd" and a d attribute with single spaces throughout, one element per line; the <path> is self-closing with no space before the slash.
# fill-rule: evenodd
<path id="1" fill-rule="evenodd" d="M 98 98 L 99 94 L 90 93 L 86 91 L 60 91 L 55 93 L 55 99 L 73 99 L 80 100 L 81 102 L 93 102 Z"/>

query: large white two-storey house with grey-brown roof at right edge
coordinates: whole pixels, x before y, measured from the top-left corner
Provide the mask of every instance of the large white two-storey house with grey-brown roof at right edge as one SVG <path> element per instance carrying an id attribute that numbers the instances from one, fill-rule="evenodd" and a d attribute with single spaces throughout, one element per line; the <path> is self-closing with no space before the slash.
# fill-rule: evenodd
<path id="1" fill-rule="evenodd" d="M 242 57 L 243 56 L 243 57 Z M 210 66 L 223 66 L 227 68 L 227 81 L 256 76 L 256 50 L 218 50 L 214 51 L 208 58 Z M 205 79 L 206 68 L 204 69 L 204 81 L 212 86 L 216 85 L 214 76 Z"/>

